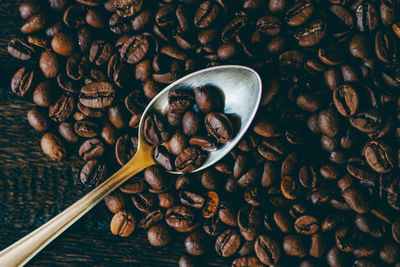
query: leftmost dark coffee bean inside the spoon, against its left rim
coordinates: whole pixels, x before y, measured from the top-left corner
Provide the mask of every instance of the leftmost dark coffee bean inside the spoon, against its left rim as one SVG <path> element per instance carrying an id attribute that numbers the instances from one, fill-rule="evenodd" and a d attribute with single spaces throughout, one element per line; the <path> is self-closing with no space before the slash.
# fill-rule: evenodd
<path id="1" fill-rule="evenodd" d="M 158 145 L 170 138 L 167 125 L 158 114 L 149 115 L 144 121 L 144 138 L 149 144 Z"/>

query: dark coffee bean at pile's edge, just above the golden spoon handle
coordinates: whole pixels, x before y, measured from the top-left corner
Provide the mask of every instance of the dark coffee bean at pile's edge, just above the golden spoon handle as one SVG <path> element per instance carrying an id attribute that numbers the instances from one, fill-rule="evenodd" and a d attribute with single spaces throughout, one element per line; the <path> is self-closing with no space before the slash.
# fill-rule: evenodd
<path id="1" fill-rule="evenodd" d="M 106 175 L 106 165 L 97 159 L 92 159 L 82 167 L 80 178 L 83 184 L 96 187 L 104 181 Z"/>

